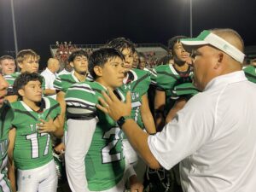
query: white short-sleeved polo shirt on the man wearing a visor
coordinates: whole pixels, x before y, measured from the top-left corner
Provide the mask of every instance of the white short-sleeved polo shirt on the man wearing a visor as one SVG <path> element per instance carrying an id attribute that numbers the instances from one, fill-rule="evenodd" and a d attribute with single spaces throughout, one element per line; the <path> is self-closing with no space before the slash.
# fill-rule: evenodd
<path id="1" fill-rule="evenodd" d="M 256 191 L 256 84 L 242 71 L 212 79 L 148 146 L 183 191 Z"/>

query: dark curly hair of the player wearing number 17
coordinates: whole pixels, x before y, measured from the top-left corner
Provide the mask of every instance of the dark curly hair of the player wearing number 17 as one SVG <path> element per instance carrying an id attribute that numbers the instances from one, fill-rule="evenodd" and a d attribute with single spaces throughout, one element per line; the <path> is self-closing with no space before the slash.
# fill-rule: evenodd
<path id="1" fill-rule="evenodd" d="M 39 81 L 41 84 L 43 84 L 43 77 L 39 75 L 38 73 L 21 73 L 16 79 L 14 83 L 14 93 L 17 96 L 19 95 L 19 90 L 24 88 L 24 86 L 30 82 L 30 81 Z"/>

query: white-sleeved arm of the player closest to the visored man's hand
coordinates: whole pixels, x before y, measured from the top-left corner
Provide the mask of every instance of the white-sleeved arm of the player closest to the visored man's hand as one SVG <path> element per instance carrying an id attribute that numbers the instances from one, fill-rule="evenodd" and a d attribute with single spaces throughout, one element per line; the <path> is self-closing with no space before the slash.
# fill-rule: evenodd
<path id="1" fill-rule="evenodd" d="M 96 118 L 90 120 L 68 119 L 67 121 L 65 162 L 68 183 L 73 191 L 89 191 L 85 177 L 84 159 L 90 148 L 96 122 Z"/>

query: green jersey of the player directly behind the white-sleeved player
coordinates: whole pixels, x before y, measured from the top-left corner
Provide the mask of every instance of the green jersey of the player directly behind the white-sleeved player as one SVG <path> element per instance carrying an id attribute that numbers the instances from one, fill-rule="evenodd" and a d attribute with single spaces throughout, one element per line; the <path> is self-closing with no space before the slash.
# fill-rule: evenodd
<path id="1" fill-rule="evenodd" d="M 150 84 L 150 73 L 132 69 L 128 72 L 126 84 L 119 87 L 124 92 L 131 91 L 131 118 L 134 119 L 140 127 L 144 127 L 140 107 L 142 105 L 142 96 L 147 94 Z"/>

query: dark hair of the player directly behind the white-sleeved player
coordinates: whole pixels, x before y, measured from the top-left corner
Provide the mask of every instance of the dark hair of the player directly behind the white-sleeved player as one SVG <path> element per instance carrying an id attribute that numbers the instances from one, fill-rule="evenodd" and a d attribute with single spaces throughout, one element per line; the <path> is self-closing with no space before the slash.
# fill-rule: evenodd
<path id="1" fill-rule="evenodd" d="M 135 52 L 135 45 L 131 42 L 129 38 L 114 38 L 108 42 L 108 47 L 119 49 L 123 51 L 124 49 L 131 49 L 132 53 Z"/>

